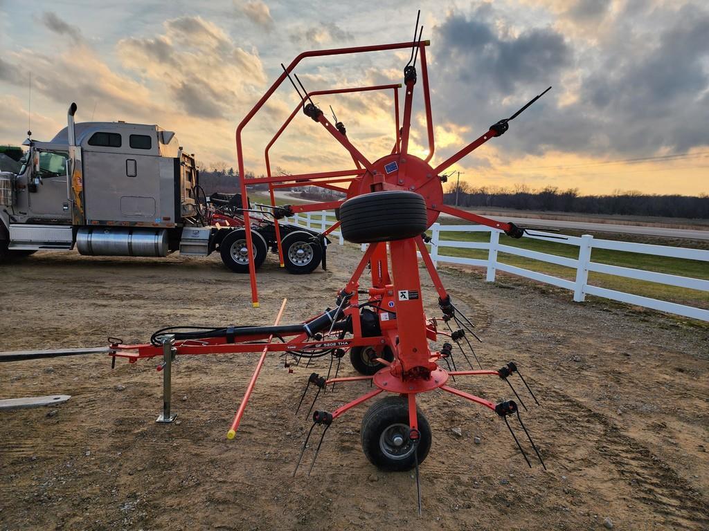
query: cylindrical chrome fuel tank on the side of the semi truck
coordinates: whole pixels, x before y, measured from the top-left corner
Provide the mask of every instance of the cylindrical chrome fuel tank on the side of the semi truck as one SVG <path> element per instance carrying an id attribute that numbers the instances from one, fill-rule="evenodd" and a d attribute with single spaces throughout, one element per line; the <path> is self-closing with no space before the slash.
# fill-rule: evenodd
<path id="1" fill-rule="evenodd" d="M 77 232 L 77 250 L 90 256 L 167 256 L 167 230 L 86 227 Z"/>

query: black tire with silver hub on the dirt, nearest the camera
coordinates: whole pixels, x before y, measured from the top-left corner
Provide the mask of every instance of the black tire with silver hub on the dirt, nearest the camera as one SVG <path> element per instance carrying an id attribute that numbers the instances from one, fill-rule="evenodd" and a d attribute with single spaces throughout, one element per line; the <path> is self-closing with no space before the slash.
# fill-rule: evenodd
<path id="1" fill-rule="evenodd" d="M 362 418 L 362 450 L 369 462 L 387 472 L 405 472 L 423 463 L 431 448 L 431 428 L 425 415 L 416 409 L 418 419 L 418 448 L 409 440 L 408 402 L 406 396 L 386 396 L 376 401 Z M 396 434 L 401 435 L 403 445 L 391 443 Z M 393 435 L 393 437 L 391 436 Z M 396 455 L 396 453 L 400 455 Z M 418 456 L 414 453 L 418 454 Z"/>

